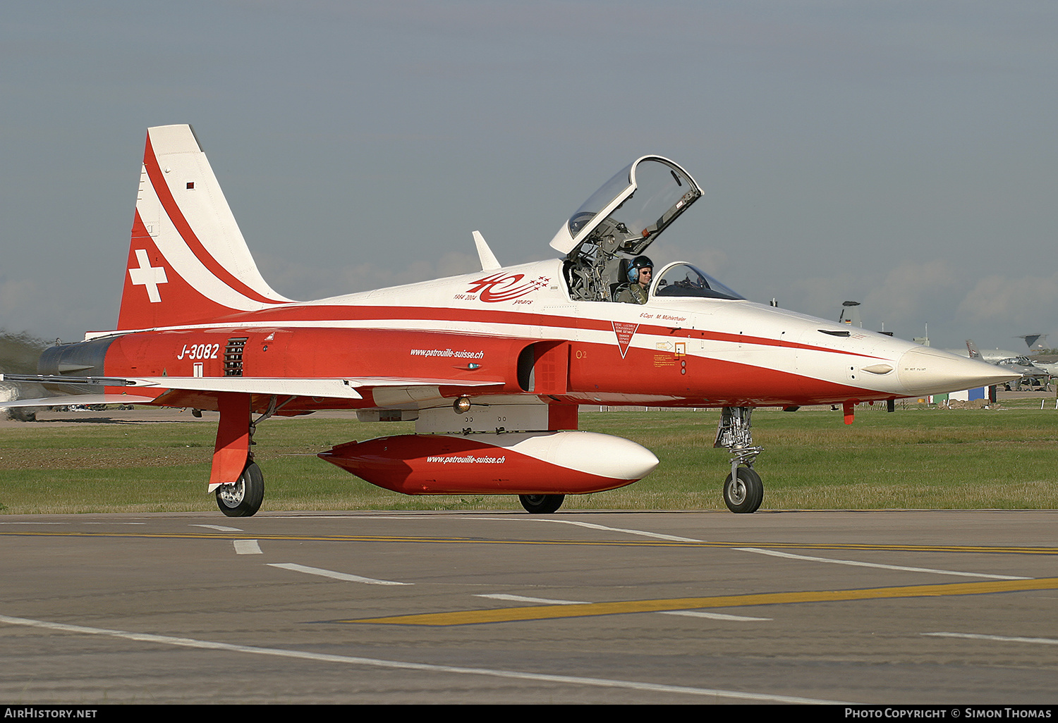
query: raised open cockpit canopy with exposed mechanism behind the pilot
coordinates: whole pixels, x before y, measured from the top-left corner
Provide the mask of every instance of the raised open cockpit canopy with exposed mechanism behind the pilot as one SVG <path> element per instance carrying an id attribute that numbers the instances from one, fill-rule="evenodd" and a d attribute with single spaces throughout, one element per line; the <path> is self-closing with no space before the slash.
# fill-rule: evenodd
<path id="1" fill-rule="evenodd" d="M 608 301 L 627 282 L 627 262 L 701 198 L 690 173 L 660 155 L 644 155 L 591 194 L 551 239 L 566 255 L 570 296 Z"/>

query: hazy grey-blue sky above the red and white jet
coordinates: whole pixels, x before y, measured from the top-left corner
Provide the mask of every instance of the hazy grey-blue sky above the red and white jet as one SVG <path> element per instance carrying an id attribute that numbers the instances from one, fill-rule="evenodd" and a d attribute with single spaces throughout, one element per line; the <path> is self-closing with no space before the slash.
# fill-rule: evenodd
<path id="1" fill-rule="evenodd" d="M 747 297 L 1058 346 L 1053 2 L 6 3 L 0 327 L 117 315 L 149 126 L 190 123 L 311 299 L 504 263 L 633 159 L 705 197 L 652 247 Z"/>

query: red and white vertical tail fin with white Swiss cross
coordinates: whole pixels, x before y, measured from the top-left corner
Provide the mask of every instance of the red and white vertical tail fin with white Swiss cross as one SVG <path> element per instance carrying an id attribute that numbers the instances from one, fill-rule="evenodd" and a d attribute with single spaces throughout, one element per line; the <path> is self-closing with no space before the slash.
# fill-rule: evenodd
<path id="1" fill-rule="evenodd" d="M 190 126 L 149 128 L 117 329 L 289 302 L 257 271 Z"/>

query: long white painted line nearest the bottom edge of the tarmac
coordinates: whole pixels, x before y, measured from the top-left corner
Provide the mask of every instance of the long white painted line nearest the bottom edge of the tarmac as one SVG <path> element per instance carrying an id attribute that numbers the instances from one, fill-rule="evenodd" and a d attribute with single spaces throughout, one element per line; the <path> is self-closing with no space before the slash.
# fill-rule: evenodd
<path id="1" fill-rule="evenodd" d="M 344 663 L 347 665 L 364 665 L 376 668 L 389 668 L 399 670 L 422 670 L 426 672 L 454 673 L 464 675 L 488 675 L 491 678 L 505 678 L 509 680 L 537 681 L 544 683 L 555 683 L 560 685 L 582 685 L 602 688 L 623 688 L 626 690 L 641 690 L 644 692 L 680 693 L 686 696 L 711 696 L 714 698 L 730 698 L 742 701 L 756 701 L 761 703 L 815 703 L 820 705 L 852 705 L 842 701 L 825 701 L 814 698 L 798 698 L 792 696 L 772 696 L 768 693 L 749 693 L 737 690 L 719 690 L 710 688 L 695 688 L 683 685 L 664 685 L 661 683 L 642 683 L 638 681 L 610 680 L 606 678 L 584 678 L 580 675 L 552 675 L 550 673 L 521 672 L 517 670 L 500 670 L 496 668 L 469 668 L 455 665 L 431 665 L 427 663 L 405 663 L 402 661 L 383 661 L 372 657 L 357 657 L 353 655 L 333 655 L 327 653 L 315 653 L 303 650 L 284 650 L 281 648 L 258 648 L 250 645 L 233 645 L 231 643 L 215 643 L 213 641 L 199 641 L 193 637 L 175 637 L 170 635 L 153 635 L 150 633 L 135 633 L 125 630 L 107 630 L 105 628 L 88 628 L 80 625 L 66 625 L 62 623 L 48 623 L 44 620 L 34 620 L 25 617 L 8 617 L 0 615 L 0 623 L 7 625 L 21 625 L 44 630 L 56 630 L 58 632 L 81 633 L 86 635 L 107 635 L 109 637 L 120 637 L 140 643 L 172 645 L 183 648 L 198 648 L 200 650 L 220 650 L 224 652 L 240 652 L 254 655 L 273 655 L 276 657 L 293 657 L 303 661 L 316 661 L 324 663 Z"/>

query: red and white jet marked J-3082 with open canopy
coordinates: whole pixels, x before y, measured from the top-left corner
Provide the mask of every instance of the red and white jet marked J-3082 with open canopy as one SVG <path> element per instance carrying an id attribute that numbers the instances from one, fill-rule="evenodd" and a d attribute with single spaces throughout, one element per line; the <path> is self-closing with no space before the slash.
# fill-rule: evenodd
<path id="1" fill-rule="evenodd" d="M 690 173 L 657 155 L 562 224 L 551 240 L 562 258 L 501 266 L 474 231 L 480 271 L 318 301 L 287 299 L 261 277 L 189 126 L 147 131 L 136 198 L 116 330 L 45 350 L 37 375 L 0 377 L 80 393 L 6 406 L 218 411 L 208 490 L 233 517 L 260 507 L 251 444 L 275 414 L 414 420 L 414 434 L 320 457 L 407 495 L 517 495 L 530 513 L 550 513 L 566 495 L 614 489 L 658 464 L 634 442 L 579 431 L 580 405 L 719 407 L 724 499 L 752 513 L 764 494 L 755 407 L 840 404 L 851 423 L 858 402 L 1015 376 L 753 303 L 681 261 L 657 270 L 642 303 L 618 302 L 643 265 L 635 260 L 701 198 Z"/>

